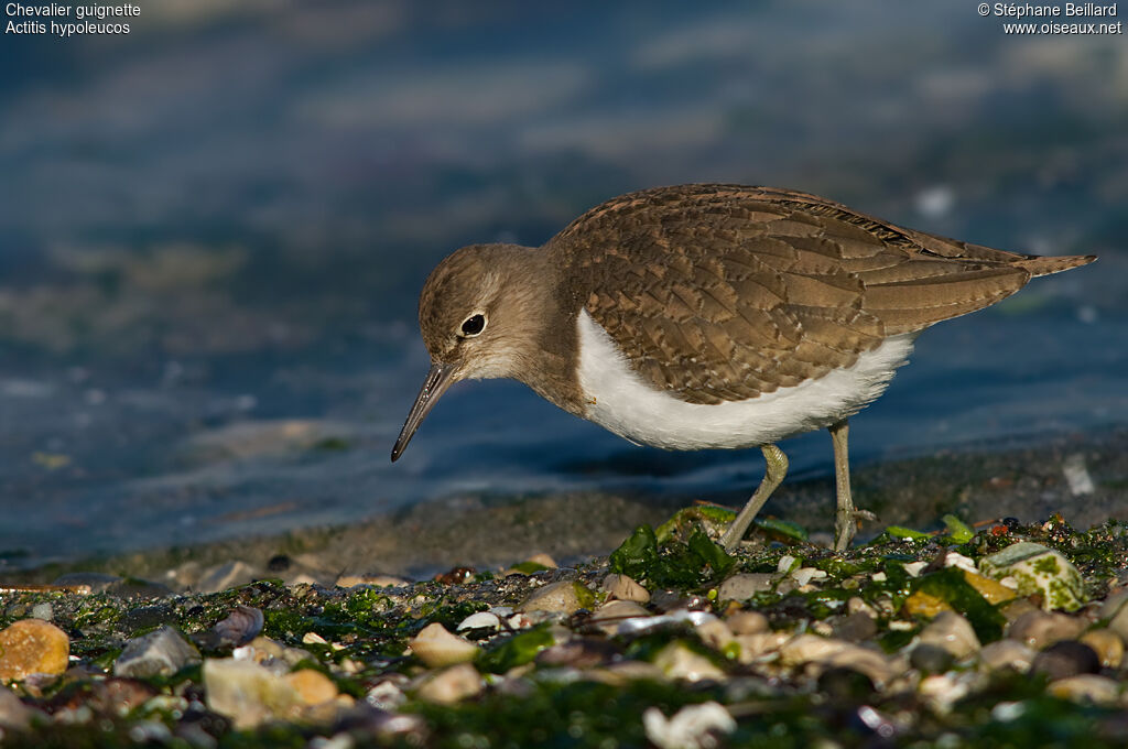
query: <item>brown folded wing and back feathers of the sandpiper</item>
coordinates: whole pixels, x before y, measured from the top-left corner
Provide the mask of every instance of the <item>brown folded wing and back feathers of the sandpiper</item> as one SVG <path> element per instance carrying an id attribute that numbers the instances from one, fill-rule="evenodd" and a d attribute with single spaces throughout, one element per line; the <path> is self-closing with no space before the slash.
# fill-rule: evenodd
<path id="1" fill-rule="evenodd" d="M 1031 276 L 1024 255 L 737 185 L 617 197 L 546 249 L 638 374 L 705 404 L 851 367 L 885 337 L 992 305 Z"/>

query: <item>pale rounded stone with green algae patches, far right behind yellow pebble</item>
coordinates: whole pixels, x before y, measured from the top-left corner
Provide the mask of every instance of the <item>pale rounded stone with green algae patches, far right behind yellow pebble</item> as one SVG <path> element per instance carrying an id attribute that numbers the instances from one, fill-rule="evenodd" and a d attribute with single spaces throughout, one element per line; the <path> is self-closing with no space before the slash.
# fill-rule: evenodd
<path id="1" fill-rule="evenodd" d="M 1087 600 L 1077 567 L 1041 544 L 1012 544 L 979 559 L 979 572 L 994 580 L 1014 580 L 1020 596 L 1041 596 L 1046 610 L 1073 611 Z"/>

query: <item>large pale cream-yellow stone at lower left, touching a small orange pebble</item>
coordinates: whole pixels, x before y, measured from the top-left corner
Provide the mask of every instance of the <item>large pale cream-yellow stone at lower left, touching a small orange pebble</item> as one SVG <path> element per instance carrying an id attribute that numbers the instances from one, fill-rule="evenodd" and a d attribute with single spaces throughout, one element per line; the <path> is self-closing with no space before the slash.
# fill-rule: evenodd
<path id="1" fill-rule="evenodd" d="M 239 730 L 283 716 L 301 702 L 282 677 L 253 661 L 210 658 L 203 675 L 208 707 Z"/>

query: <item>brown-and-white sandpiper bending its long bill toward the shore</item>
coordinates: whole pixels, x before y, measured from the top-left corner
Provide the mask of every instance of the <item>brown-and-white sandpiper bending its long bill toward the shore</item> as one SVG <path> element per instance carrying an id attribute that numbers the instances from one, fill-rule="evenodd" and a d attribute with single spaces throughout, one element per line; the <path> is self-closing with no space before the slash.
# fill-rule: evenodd
<path id="1" fill-rule="evenodd" d="M 431 369 L 391 460 L 452 384 L 512 378 L 634 443 L 760 448 L 764 478 L 721 538 L 731 552 L 786 475 L 777 443 L 826 429 L 843 552 L 862 517 L 848 420 L 916 337 L 1094 259 L 992 249 L 791 190 L 628 193 L 540 247 L 469 245 L 431 272 L 418 302 Z"/>

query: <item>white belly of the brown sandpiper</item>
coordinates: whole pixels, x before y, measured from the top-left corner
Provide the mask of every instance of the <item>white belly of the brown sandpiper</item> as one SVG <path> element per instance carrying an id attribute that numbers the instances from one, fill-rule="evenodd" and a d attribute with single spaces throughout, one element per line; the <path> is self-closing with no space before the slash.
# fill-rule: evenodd
<path id="1" fill-rule="evenodd" d="M 915 334 L 887 338 L 849 369 L 747 400 L 686 403 L 647 385 L 587 310 L 580 333 L 585 416 L 620 437 L 667 450 L 746 448 L 829 426 L 881 395 L 908 360 Z"/>

